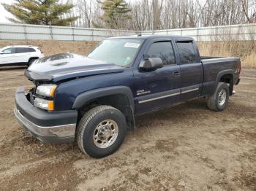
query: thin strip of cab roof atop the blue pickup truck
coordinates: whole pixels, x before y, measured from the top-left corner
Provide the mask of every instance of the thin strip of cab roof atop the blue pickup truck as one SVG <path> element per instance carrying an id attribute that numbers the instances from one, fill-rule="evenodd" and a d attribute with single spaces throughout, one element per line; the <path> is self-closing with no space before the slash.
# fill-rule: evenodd
<path id="1" fill-rule="evenodd" d="M 132 36 L 116 36 L 109 39 L 159 39 L 171 37 L 176 41 L 193 41 L 192 37 L 176 36 L 176 35 L 132 35 Z"/>

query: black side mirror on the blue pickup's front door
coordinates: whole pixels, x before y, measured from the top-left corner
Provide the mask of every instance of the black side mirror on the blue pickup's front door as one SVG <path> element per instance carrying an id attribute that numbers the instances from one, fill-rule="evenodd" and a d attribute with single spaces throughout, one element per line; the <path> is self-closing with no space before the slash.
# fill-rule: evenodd
<path id="1" fill-rule="evenodd" d="M 140 62 L 139 69 L 142 70 L 154 70 L 160 69 L 164 66 L 161 58 L 148 58 Z"/>

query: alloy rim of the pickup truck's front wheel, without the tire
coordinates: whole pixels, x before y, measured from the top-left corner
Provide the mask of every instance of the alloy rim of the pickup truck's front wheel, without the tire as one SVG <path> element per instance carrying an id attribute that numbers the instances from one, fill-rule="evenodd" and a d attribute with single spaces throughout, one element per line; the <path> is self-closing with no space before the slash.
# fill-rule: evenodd
<path id="1" fill-rule="evenodd" d="M 118 125 L 113 120 L 99 122 L 94 130 L 94 144 L 99 148 L 110 147 L 118 136 Z"/>

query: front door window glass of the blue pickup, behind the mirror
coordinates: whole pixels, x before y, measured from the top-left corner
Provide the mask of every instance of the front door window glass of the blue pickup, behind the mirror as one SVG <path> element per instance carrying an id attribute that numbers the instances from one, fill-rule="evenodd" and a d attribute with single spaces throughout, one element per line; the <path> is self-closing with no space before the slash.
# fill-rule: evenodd
<path id="1" fill-rule="evenodd" d="M 176 64 L 171 42 L 154 42 L 146 54 L 148 58 L 161 58 L 164 65 Z"/>

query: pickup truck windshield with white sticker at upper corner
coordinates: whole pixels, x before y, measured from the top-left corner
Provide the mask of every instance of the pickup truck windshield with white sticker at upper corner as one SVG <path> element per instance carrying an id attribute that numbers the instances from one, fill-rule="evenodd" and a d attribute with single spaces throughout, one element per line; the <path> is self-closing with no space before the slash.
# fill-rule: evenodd
<path id="1" fill-rule="evenodd" d="M 118 66 L 129 66 L 142 43 L 143 39 L 107 39 L 95 47 L 88 57 Z"/>

